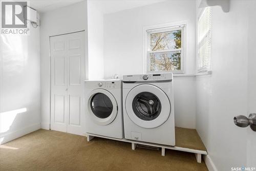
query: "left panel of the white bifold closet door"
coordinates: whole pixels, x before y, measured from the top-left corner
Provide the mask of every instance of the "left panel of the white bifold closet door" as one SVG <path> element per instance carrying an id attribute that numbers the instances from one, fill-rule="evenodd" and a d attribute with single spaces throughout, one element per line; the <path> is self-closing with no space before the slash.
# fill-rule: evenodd
<path id="1" fill-rule="evenodd" d="M 51 130 L 67 132 L 67 45 L 64 36 L 50 38 Z"/>

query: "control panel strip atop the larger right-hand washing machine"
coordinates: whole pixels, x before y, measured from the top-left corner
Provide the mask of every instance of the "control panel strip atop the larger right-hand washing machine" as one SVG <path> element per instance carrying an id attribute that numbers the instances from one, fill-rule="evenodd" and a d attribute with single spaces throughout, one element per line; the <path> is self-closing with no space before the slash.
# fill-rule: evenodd
<path id="1" fill-rule="evenodd" d="M 169 81 L 173 80 L 173 73 L 166 74 L 143 74 L 143 75 L 124 75 L 123 81 Z"/>

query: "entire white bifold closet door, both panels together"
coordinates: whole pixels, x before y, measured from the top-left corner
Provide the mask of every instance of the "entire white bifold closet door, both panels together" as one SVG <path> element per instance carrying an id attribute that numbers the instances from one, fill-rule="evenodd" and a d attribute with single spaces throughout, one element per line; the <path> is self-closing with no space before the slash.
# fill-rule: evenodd
<path id="1" fill-rule="evenodd" d="M 84 32 L 50 38 L 51 130 L 84 135 Z"/>

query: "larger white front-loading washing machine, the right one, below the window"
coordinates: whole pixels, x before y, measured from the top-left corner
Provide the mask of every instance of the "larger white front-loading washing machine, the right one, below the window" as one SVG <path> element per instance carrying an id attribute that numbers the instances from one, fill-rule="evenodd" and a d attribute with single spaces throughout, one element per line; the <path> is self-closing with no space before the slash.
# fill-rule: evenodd
<path id="1" fill-rule="evenodd" d="M 123 76 L 126 139 L 175 145 L 173 74 Z"/>

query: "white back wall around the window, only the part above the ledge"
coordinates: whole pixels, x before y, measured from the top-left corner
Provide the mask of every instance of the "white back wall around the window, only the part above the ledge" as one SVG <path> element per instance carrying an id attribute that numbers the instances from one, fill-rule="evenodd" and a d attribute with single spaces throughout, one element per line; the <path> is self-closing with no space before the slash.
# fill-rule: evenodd
<path id="1" fill-rule="evenodd" d="M 166 1 L 104 15 L 105 77 L 141 74 L 142 28 L 187 21 L 186 74 L 195 73 L 195 1 Z"/>

